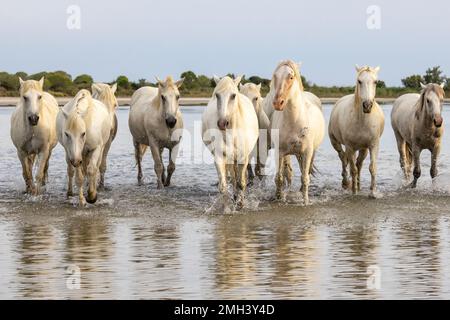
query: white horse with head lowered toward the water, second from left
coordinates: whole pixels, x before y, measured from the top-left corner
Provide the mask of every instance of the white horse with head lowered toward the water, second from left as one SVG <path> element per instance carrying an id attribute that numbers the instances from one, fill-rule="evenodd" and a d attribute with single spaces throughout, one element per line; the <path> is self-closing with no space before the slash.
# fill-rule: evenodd
<path id="1" fill-rule="evenodd" d="M 97 201 L 97 177 L 105 146 L 111 134 L 111 117 L 108 108 L 93 99 L 87 90 L 81 90 L 58 113 L 56 120 L 58 140 L 66 151 L 68 187 L 67 196 L 73 195 L 72 181 L 76 182 L 80 205 Z M 84 176 L 89 188 L 83 194 Z"/>

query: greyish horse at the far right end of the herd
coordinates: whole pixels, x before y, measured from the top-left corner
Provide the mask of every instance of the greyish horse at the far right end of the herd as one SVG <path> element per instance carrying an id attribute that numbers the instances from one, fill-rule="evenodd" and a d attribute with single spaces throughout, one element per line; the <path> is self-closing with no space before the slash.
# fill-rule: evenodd
<path id="1" fill-rule="evenodd" d="M 405 94 L 395 100 L 392 107 L 392 128 L 400 153 L 400 166 L 406 179 L 409 179 L 414 165 L 412 188 L 417 186 L 417 179 L 421 174 L 420 153 L 423 149 L 431 152 L 431 178 L 437 176 L 436 163 L 444 134 L 443 87 L 444 84 L 422 84 L 420 95 Z"/>

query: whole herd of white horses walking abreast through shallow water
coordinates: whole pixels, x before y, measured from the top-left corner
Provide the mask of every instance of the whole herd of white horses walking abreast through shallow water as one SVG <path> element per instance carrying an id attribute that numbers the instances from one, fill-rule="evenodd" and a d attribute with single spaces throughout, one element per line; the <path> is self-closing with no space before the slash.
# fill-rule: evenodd
<path id="1" fill-rule="evenodd" d="M 356 67 L 355 93 L 334 106 L 328 133 L 342 162 L 342 187 L 360 190 L 361 168 L 370 154 L 370 197 L 375 197 L 377 156 L 384 129 L 384 115 L 375 101 L 379 68 Z M 240 84 L 241 78 L 214 78 L 216 87 L 202 115 L 202 138 L 214 157 L 218 188 L 226 195 L 233 186 L 237 208 L 244 203 L 247 180 L 264 176 L 267 150 L 277 150 L 276 197 L 292 182 L 291 155 L 301 169 L 301 193 L 309 203 L 308 188 L 314 172 L 314 156 L 325 135 L 321 101 L 304 91 L 299 66 L 282 61 L 275 69 L 270 91 L 263 99 L 261 85 Z M 177 146 L 182 137 L 183 118 L 179 109 L 179 88 L 183 79 L 158 79 L 158 86 L 143 87 L 132 96 L 129 128 L 133 136 L 138 183 L 142 183 L 142 157 L 150 148 L 158 188 L 170 185 L 175 171 Z M 73 196 L 75 177 L 81 206 L 95 203 L 97 189 L 104 187 L 107 156 L 117 133 L 116 84 L 92 85 L 92 93 L 79 91 L 62 108 L 43 91 L 40 81 L 20 79 L 20 99 L 11 118 L 11 138 L 23 168 L 26 191 L 42 192 L 48 176 L 49 159 L 56 144 L 65 149 L 67 196 Z M 406 179 L 416 187 L 421 175 L 420 153 L 428 149 L 431 177 L 437 175 L 436 162 L 443 135 L 443 85 L 422 85 L 420 94 L 399 97 L 392 108 L 391 121 L 397 139 L 400 165 Z M 276 139 L 274 139 L 276 133 Z M 169 150 L 167 172 L 163 149 Z M 256 157 L 255 172 L 250 158 Z M 36 161 L 38 160 L 38 161 Z M 33 166 L 38 163 L 35 179 Z M 348 177 L 348 169 L 351 181 Z M 413 169 L 413 170 L 412 170 Z M 83 187 L 87 180 L 87 195 Z"/>

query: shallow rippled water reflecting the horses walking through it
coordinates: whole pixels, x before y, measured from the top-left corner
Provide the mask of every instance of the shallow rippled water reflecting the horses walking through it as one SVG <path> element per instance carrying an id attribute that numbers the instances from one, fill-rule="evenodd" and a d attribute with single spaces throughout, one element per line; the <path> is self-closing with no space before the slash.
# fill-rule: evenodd
<path id="1" fill-rule="evenodd" d="M 137 185 L 128 110 L 120 108 L 108 190 L 87 208 L 66 199 L 61 146 L 45 194 L 23 194 L 9 138 L 13 109 L 0 108 L 0 298 L 450 298 L 449 133 L 439 176 L 431 181 L 424 152 L 418 189 L 405 189 L 391 106 L 383 109 L 378 199 L 367 197 L 367 163 L 361 194 L 341 190 L 340 162 L 326 138 L 310 206 L 300 201 L 296 166 L 286 201 L 272 201 L 269 177 L 249 189 L 242 211 L 224 212 L 216 208 L 214 165 L 198 147 L 202 107 L 182 108 L 191 133 L 185 142 L 194 147 L 180 154 L 164 190 L 156 189 L 149 154 L 146 183 Z"/>

